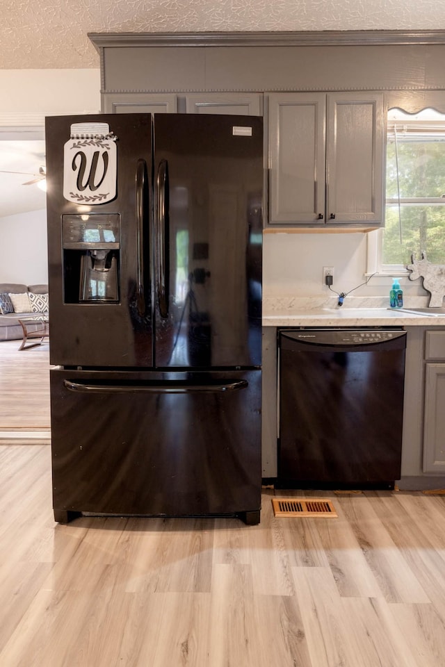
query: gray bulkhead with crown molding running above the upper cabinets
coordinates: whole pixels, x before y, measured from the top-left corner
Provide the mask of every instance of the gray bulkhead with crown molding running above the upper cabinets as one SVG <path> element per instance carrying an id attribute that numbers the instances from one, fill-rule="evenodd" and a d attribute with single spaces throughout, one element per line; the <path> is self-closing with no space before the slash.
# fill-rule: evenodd
<path id="1" fill-rule="evenodd" d="M 90 33 L 102 94 L 445 89 L 445 31 Z"/>

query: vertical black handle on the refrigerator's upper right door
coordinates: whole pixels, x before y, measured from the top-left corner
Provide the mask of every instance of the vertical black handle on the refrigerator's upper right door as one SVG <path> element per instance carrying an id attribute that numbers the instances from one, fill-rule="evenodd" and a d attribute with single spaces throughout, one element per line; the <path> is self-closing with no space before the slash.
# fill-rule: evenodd
<path id="1" fill-rule="evenodd" d="M 168 233 L 168 163 L 161 160 L 158 167 L 157 186 L 157 238 L 158 263 L 157 283 L 159 313 L 161 318 L 168 318 L 168 257 L 165 254 Z"/>

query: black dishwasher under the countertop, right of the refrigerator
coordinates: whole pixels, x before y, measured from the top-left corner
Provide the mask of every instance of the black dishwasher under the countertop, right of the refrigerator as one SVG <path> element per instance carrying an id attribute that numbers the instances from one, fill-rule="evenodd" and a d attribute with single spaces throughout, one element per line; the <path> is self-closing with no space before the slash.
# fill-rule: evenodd
<path id="1" fill-rule="evenodd" d="M 406 332 L 280 329 L 278 488 L 394 488 Z"/>

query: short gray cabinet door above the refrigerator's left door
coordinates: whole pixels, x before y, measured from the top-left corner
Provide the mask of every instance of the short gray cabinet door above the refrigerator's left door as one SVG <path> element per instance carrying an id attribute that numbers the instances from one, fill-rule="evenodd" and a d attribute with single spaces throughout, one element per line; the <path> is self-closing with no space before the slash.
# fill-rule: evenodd
<path id="1" fill-rule="evenodd" d="M 106 93 L 103 113 L 176 113 L 177 95 L 156 92 Z"/>

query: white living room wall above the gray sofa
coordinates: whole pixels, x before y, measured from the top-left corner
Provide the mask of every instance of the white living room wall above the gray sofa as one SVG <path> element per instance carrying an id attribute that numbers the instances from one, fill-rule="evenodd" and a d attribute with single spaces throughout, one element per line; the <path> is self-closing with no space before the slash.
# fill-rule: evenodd
<path id="1" fill-rule="evenodd" d="M 0 282 L 48 282 L 47 211 L 0 218 Z"/>

